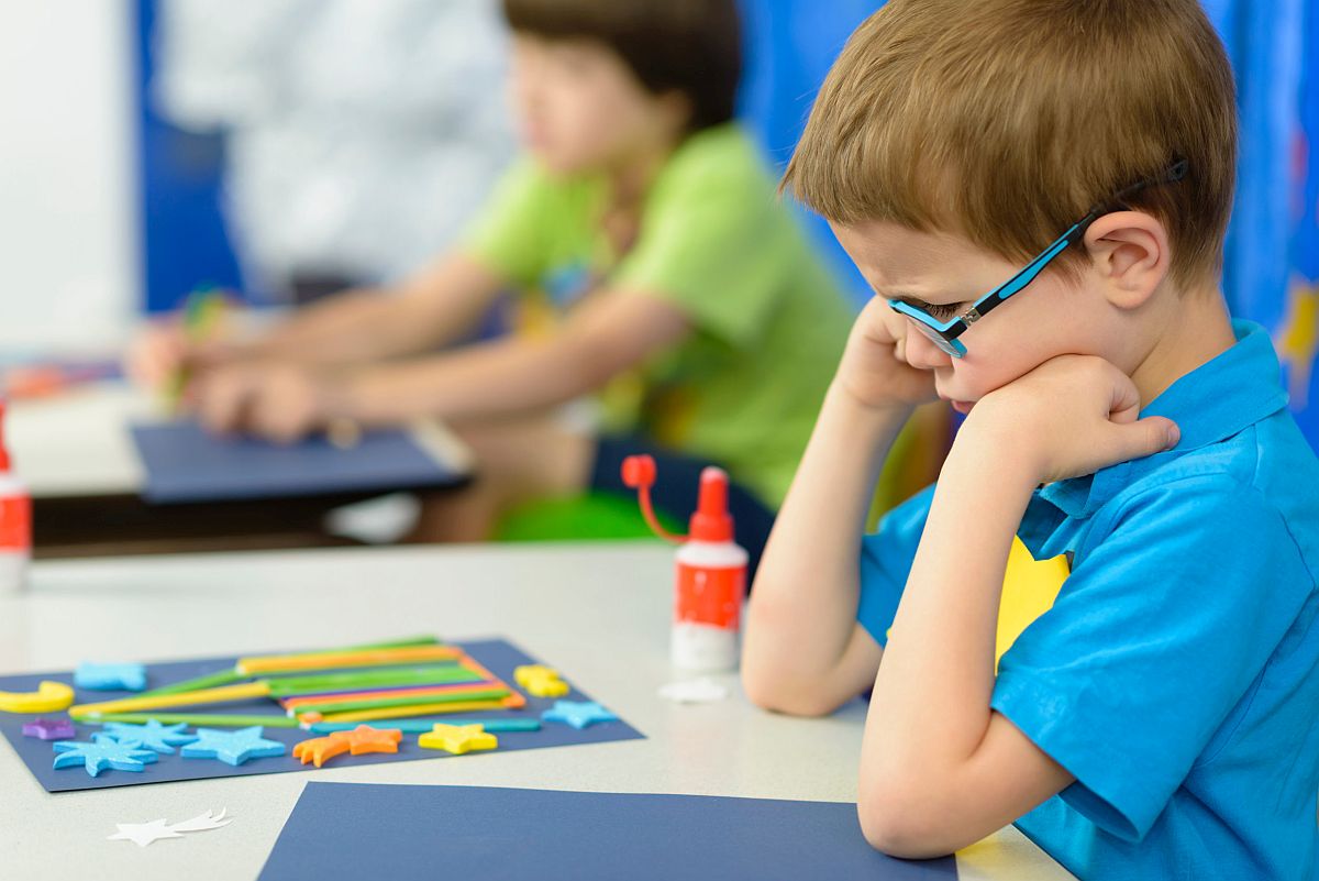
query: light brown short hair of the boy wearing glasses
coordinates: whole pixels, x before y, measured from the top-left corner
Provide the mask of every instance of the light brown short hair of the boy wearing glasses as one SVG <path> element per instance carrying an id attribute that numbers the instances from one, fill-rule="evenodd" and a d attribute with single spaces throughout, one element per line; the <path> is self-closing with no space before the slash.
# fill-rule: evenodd
<path id="1" fill-rule="evenodd" d="M 1232 69 L 1199 0 L 892 0 L 848 40 L 782 186 L 835 223 L 1026 260 L 1179 158 L 1184 181 L 1128 204 L 1166 226 L 1190 285 L 1221 272 L 1236 174 Z"/>

